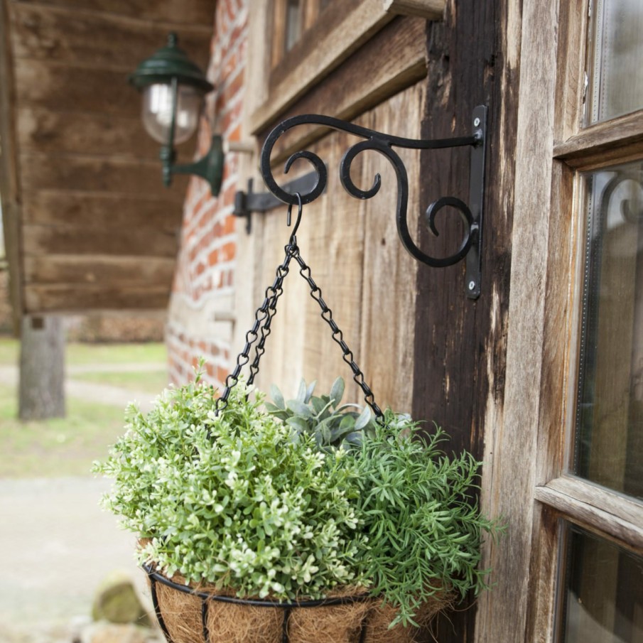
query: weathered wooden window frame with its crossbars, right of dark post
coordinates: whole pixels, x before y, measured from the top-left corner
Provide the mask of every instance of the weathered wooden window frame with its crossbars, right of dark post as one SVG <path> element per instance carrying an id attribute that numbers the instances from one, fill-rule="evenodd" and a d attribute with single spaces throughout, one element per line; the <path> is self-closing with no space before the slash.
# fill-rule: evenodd
<path id="1" fill-rule="evenodd" d="M 487 433 L 482 478 L 485 507 L 511 522 L 485 552 L 497 586 L 478 599 L 477 643 L 556 641 L 563 521 L 643 551 L 643 503 L 569 472 L 580 172 L 643 157 L 643 110 L 582 126 L 587 21 L 587 0 L 522 7 L 504 430 Z"/>

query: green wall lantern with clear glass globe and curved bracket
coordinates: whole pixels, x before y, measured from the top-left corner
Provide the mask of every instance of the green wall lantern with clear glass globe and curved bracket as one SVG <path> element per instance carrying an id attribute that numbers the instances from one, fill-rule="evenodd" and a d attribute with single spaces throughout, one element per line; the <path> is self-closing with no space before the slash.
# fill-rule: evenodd
<path id="1" fill-rule="evenodd" d="M 203 97 L 214 89 L 177 43 L 176 34 L 171 33 L 168 44 L 136 67 L 129 82 L 143 95 L 142 116 L 146 131 L 162 145 L 163 183 L 170 185 L 174 174 L 193 174 L 207 180 L 212 196 L 217 196 L 221 190 L 224 161 L 220 135 L 212 135 L 210 151 L 196 163 L 174 163 L 174 146 L 194 134 Z"/>

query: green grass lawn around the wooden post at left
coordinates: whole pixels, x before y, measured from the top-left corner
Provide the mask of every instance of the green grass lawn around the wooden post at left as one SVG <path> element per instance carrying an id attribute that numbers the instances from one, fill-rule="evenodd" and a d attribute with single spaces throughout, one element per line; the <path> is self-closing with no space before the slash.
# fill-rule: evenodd
<path id="1" fill-rule="evenodd" d="M 19 350 L 17 340 L 0 337 L 0 367 L 18 364 Z M 67 368 L 70 379 L 126 391 L 156 394 L 168 383 L 162 343 L 70 343 L 65 362 L 66 367 L 83 367 L 77 373 Z M 149 366 L 136 371 L 139 364 Z M 124 405 L 71 395 L 67 396 L 66 418 L 22 422 L 17 415 L 16 389 L 0 384 L 0 477 L 90 475 L 92 461 L 105 458 L 124 426 Z"/>

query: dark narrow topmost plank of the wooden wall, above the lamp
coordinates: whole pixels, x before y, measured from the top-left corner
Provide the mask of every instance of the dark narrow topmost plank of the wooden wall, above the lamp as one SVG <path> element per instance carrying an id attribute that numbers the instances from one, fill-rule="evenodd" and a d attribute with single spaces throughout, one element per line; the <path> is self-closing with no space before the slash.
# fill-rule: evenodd
<path id="1" fill-rule="evenodd" d="M 13 5 L 58 6 L 74 11 L 129 16 L 145 23 L 175 23 L 179 25 L 202 25 L 211 31 L 215 0 L 13 0 Z"/>

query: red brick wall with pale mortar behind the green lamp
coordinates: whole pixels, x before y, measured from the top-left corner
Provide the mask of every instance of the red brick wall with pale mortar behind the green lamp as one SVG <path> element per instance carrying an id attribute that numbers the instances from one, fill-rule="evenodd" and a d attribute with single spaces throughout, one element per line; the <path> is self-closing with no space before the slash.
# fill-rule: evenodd
<path id="1" fill-rule="evenodd" d="M 225 141 L 241 138 L 244 70 L 247 54 L 249 0 L 218 0 L 208 78 L 215 92 L 207 97 L 198 151 L 210 146 L 210 123 Z M 183 210 L 183 229 L 173 284 L 166 342 L 170 376 L 185 382 L 198 356 L 207 360 L 208 379 L 221 384 L 232 355 L 234 269 L 237 254 L 236 222 L 232 215 L 237 190 L 239 158 L 228 153 L 221 193 L 198 178 L 190 181 Z M 227 320 L 227 322 L 226 322 Z"/>

